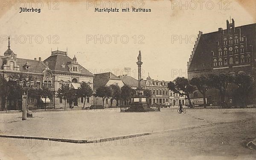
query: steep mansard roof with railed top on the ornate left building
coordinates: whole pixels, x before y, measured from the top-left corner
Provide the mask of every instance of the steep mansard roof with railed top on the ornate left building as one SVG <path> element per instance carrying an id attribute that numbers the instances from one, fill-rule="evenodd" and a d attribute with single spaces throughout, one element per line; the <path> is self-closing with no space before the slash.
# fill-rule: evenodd
<path id="1" fill-rule="evenodd" d="M 48 63 L 49 69 L 52 71 L 65 71 L 65 72 L 70 72 L 70 68 L 67 66 L 68 62 L 72 62 L 73 59 L 67 56 L 67 54 L 59 54 L 61 53 L 66 53 L 63 51 L 52 51 L 52 55 L 48 57 L 46 60 L 44 60 L 44 63 Z M 83 66 L 79 65 L 79 69 L 81 68 L 81 74 L 88 74 L 88 75 L 93 75 L 90 71 L 85 69 Z"/>

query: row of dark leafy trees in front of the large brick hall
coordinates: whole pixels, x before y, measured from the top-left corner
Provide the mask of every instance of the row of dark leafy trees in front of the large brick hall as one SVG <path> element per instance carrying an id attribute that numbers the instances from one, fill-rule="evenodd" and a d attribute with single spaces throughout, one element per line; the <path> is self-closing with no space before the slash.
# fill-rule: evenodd
<path id="1" fill-rule="evenodd" d="M 224 72 L 194 77 L 191 80 L 184 77 L 177 77 L 173 82 L 168 84 L 168 88 L 180 95 L 186 95 L 190 106 L 192 106 L 190 95 L 195 90 L 198 90 L 203 95 L 204 106 L 206 107 L 208 89 L 217 89 L 219 91 L 222 107 L 225 106 L 227 92 L 232 94 L 241 103 L 241 106 L 245 106 L 248 102 L 248 97 L 256 89 L 256 81 L 255 77 L 247 73 L 231 75 Z"/>

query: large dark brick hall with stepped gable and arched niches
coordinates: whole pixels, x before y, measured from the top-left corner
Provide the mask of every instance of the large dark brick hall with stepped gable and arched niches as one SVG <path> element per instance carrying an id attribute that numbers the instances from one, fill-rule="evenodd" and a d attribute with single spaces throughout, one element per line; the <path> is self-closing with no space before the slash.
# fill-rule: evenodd
<path id="1" fill-rule="evenodd" d="M 197 41 L 190 55 L 188 78 L 210 73 L 226 72 L 237 74 L 247 72 L 256 75 L 256 23 L 235 26 L 235 21 L 227 20 L 227 28 L 203 34 L 199 31 Z M 208 103 L 218 104 L 218 92 L 207 91 Z M 195 91 L 191 98 L 202 98 Z M 230 97 L 229 97 L 230 98 Z"/>

